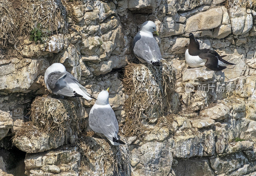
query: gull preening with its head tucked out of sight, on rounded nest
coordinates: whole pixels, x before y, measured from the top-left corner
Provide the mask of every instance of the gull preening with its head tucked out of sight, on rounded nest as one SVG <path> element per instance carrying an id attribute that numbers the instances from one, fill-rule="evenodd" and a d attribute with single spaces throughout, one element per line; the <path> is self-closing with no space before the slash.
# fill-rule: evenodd
<path id="1" fill-rule="evenodd" d="M 65 66 L 60 63 L 54 63 L 46 69 L 44 83 L 47 89 L 51 90 L 55 95 L 83 97 L 86 100 L 95 99 L 87 93 L 84 86 L 79 84 L 78 80 L 68 73 Z"/>

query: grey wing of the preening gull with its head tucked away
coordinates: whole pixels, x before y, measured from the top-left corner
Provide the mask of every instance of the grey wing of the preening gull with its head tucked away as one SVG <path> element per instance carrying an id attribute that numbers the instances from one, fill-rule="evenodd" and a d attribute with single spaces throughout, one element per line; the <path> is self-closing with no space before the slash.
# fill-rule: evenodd
<path id="1" fill-rule="evenodd" d="M 52 93 L 64 96 L 76 96 L 76 92 L 67 85 L 66 72 L 52 72 L 48 75 L 47 84 L 52 90 Z"/>

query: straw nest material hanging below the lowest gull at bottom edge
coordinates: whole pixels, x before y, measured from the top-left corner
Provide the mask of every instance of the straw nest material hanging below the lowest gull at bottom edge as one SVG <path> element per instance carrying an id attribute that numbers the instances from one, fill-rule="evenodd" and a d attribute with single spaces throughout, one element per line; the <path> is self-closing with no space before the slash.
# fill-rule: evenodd
<path id="1" fill-rule="evenodd" d="M 82 176 L 97 175 L 130 175 L 131 155 L 129 146 L 113 146 L 104 139 L 82 135 L 78 142 L 82 155 L 80 172 Z"/>

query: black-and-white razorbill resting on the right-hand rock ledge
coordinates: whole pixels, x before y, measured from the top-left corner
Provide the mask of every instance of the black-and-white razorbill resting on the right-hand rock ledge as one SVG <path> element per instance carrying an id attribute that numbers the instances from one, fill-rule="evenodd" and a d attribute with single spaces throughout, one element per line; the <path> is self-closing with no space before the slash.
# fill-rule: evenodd
<path id="1" fill-rule="evenodd" d="M 219 71 L 227 68 L 227 65 L 236 65 L 230 63 L 220 56 L 216 51 L 203 49 L 200 50 L 199 42 L 196 40 L 192 33 L 189 33 L 189 45 L 185 52 L 185 60 L 191 68 L 206 66 L 207 68 Z"/>

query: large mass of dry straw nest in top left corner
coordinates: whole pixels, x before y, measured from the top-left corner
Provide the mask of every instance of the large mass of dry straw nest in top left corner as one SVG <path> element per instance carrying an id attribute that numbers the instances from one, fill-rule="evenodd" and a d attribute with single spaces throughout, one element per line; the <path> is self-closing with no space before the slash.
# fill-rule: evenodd
<path id="1" fill-rule="evenodd" d="M 67 30 L 66 9 L 60 0 L 0 0 L 0 47 L 16 44 L 40 26 L 40 32 L 52 34 Z"/>

